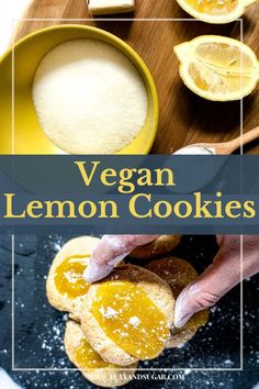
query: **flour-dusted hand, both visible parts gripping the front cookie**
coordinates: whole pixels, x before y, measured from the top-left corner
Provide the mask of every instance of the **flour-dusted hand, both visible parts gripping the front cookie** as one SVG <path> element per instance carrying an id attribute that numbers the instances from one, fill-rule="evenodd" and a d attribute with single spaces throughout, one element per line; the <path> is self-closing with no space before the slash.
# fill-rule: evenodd
<path id="1" fill-rule="evenodd" d="M 113 267 L 134 248 L 156 240 L 159 235 L 104 235 L 93 252 L 85 273 L 88 282 L 108 276 Z M 187 286 L 176 302 L 174 325 L 183 326 L 193 313 L 214 305 L 228 290 L 244 278 L 259 271 L 259 238 L 236 235 L 217 236 L 219 246 L 213 264 L 192 284 Z M 243 270 L 241 270 L 243 267 Z"/>

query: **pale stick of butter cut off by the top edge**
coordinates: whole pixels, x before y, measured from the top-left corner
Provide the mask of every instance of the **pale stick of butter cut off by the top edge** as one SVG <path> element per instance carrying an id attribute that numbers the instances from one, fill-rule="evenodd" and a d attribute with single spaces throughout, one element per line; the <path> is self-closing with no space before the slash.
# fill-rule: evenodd
<path id="1" fill-rule="evenodd" d="M 125 13 L 135 9 L 135 0 L 88 0 L 89 11 L 93 15 Z"/>

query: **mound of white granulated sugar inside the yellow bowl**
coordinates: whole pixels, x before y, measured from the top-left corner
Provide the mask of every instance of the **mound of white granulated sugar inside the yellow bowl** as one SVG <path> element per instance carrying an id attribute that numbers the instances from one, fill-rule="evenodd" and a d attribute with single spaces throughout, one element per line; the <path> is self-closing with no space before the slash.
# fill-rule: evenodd
<path id="1" fill-rule="evenodd" d="M 33 101 L 46 135 L 70 154 L 123 149 L 147 115 L 145 84 L 131 60 L 97 40 L 74 40 L 40 64 Z"/>

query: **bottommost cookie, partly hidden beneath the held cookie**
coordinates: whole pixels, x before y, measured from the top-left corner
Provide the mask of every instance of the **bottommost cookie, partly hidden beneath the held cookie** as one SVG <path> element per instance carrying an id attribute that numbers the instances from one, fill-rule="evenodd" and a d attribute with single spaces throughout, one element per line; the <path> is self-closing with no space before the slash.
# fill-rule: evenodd
<path id="1" fill-rule="evenodd" d="M 127 368 L 103 360 L 87 342 L 80 325 L 74 321 L 66 324 L 64 344 L 71 363 L 89 381 L 101 387 L 111 388 L 130 382 L 137 368 L 137 364 Z"/>

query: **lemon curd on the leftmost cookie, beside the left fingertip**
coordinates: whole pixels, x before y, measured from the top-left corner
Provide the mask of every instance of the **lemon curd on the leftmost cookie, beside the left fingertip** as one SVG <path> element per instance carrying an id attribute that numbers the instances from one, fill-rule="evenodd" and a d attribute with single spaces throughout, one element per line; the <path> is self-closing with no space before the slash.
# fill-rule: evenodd
<path id="1" fill-rule="evenodd" d="M 66 258 L 56 269 L 54 281 L 57 290 L 69 298 L 86 294 L 89 284 L 82 275 L 88 266 L 89 255 L 74 255 Z"/>

